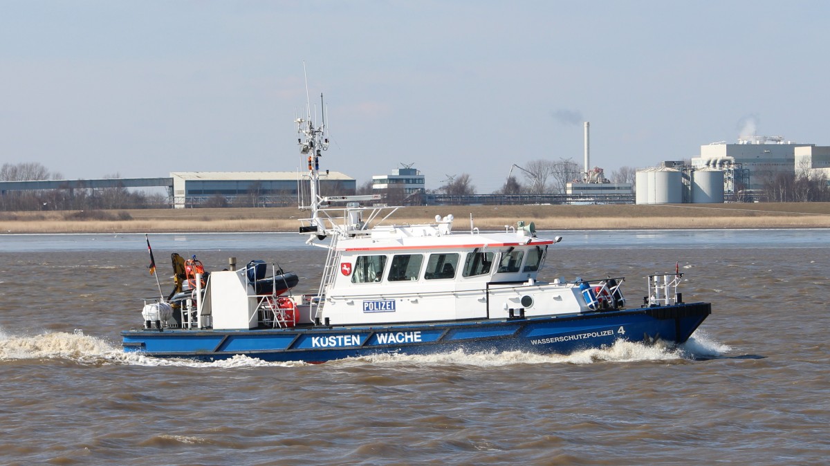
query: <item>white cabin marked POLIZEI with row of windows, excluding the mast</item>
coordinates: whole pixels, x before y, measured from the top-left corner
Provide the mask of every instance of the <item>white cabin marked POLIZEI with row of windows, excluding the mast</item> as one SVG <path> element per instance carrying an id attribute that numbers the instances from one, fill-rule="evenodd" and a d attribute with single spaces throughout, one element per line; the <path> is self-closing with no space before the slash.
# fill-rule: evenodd
<path id="1" fill-rule="evenodd" d="M 536 282 L 555 240 L 531 229 L 453 233 L 452 220 L 339 237 L 315 318 L 407 323 L 507 318 L 519 308 L 528 316 L 587 309 L 577 285 Z"/>

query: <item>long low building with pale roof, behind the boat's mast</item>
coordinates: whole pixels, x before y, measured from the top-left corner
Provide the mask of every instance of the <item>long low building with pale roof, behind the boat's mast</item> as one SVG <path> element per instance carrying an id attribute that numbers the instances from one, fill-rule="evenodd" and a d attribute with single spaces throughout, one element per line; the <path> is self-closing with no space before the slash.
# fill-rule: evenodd
<path id="1" fill-rule="evenodd" d="M 173 207 L 203 204 L 221 196 L 228 202 L 247 197 L 256 206 L 294 205 L 308 193 L 308 180 L 299 172 L 172 172 Z M 356 181 L 341 172 L 320 176 L 321 196 L 354 194 Z"/>

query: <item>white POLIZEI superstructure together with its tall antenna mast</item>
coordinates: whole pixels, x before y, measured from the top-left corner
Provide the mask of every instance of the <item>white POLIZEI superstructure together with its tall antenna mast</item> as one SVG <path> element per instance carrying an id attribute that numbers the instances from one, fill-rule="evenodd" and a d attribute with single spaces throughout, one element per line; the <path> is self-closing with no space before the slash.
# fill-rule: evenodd
<path id="1" fill-rule="evenodd" d="M 531 223 L 481 232 L 453 231 L 453 217 L 422 225 L 383 225 L 398 207 L 364 207 L 378 196 L 321 197 L 320 150 L 325 125 L 297 120 L 300 149 L 309 153 L 311 215 L 300 233 L 329 250 L 320 289 L 300 305 L 310 322 L 325 325 L 399 324 L 583 312 L 600 305 L 582 280 L 537 281 L 549 246 L 561 240 L 536 236 Z M 337 203 L 344 206 L 334 206 Z M 619 283 L 601 281 L 606 306 L 623 305 Z M 585 291 L 585 293 L 583 293 Z M 618 296 L 612 299 L 611 296 Z"/>

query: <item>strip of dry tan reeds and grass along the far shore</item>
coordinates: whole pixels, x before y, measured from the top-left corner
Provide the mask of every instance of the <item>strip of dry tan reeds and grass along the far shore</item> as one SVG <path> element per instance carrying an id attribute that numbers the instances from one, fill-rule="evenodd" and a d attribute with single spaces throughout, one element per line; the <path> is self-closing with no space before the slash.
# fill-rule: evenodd
<path id="1" fill-rule="evenodd" d="M 830 228 L 830 202 L 657 206 L 428 206 L 398 210 L 384 223 L 455 216 L 467 230 L 500 230 L 517 221 L 537 230 Z M 295 207 L 0 212 L 0 233 L 178 233 L 297 231 L 308 212 Z"/>

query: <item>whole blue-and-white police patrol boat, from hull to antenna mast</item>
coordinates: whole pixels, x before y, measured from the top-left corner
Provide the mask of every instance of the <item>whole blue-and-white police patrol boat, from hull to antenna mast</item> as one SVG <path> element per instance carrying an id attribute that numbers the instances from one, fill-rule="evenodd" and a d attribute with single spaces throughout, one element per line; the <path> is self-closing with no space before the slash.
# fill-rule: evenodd
<path id="1" fill-rule="evenodd" d="M 121 333 L 126 352 L 274 362 L 457 349 L 567 353 L 618 339 L 686 342 L 711 313 L 710 303 L 683 302 L 677 269 L 649 275 L 648 295 L 633 308 L 622 277 L 539 279 L 562 238 L 537 235 L 533 223 L 479 231 L 471 219 L 470 230 L 459 232 L 447 215 L 387 224 L 398 207 L 362 205 L 377 196 L 320 196 L 325 115 L 318 126 L 310 116 L 295 123 L 310 191 L 300 234 L 328 250 L 317 292 L 293 294 L 296 280 L 269 281 L 269 271 L 282 273 L 274 264 L 207 279 L 193 269 L 190 294 L 178 305 L 145 303 L 143 328 Z M 270 285 L 258 286 L 262 280 Z"/>

